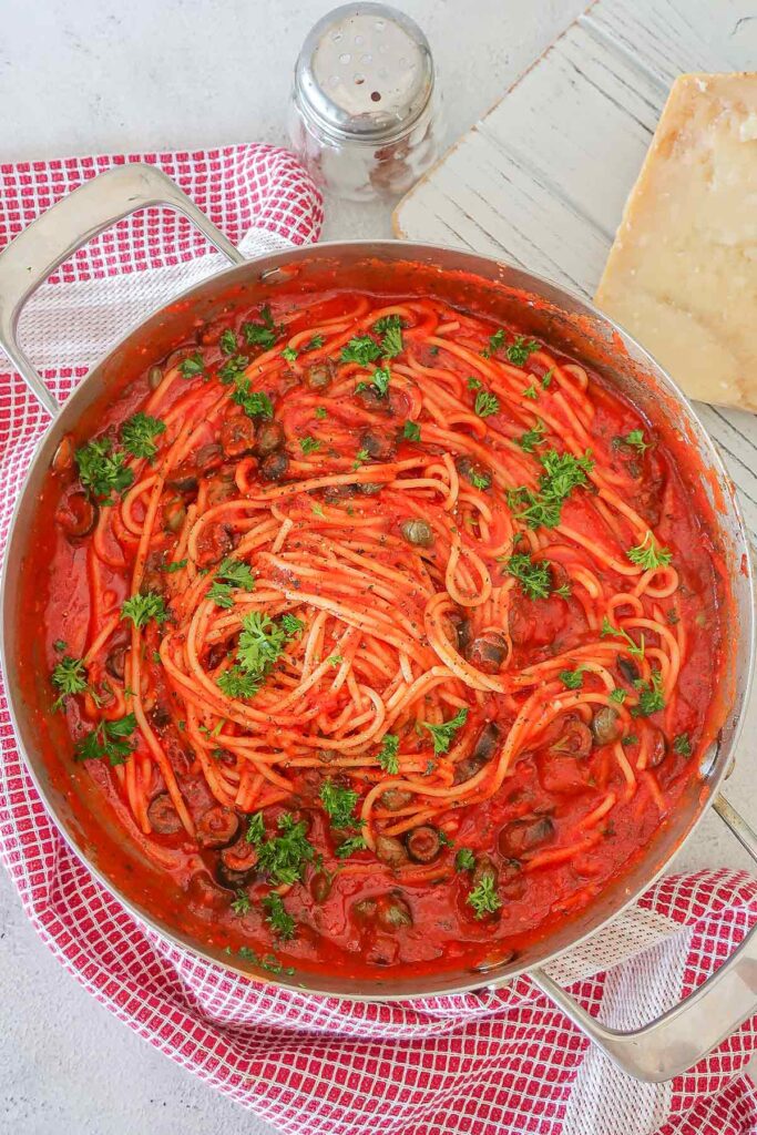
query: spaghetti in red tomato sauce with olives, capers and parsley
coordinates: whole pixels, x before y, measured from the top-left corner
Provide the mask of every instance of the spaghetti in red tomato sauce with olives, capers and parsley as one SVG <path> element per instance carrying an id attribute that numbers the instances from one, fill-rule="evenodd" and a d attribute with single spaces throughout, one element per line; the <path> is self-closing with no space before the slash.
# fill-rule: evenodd
<path id="1" fill-rule="evenodd" d="M 339 293 L 204 328 L 140 405 L 56 474 L 52 681 L 188 906 L 297 964 L 438 966 L 589 901 L 707 743 L 718 645 L 639 413 L 434 299 Z"/>

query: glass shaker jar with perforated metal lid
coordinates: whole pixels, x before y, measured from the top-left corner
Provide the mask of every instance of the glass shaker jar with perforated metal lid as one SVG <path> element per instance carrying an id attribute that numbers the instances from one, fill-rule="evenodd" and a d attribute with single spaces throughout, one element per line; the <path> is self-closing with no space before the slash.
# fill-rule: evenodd
<path id="1" fill-rule="evenodd" d="M 434 59 L 418 24 L 384 3 L 323 16 L 295 67 L 289 136 L 313 179 L 337 196 L 405 193 L 440 141 Z"/>

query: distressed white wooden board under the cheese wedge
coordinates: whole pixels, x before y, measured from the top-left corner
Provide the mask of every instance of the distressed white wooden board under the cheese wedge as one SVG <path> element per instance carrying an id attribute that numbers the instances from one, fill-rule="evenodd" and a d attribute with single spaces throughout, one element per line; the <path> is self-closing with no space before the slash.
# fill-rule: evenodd
<path id="1" fill-rule="evenodd" d="M 755 68 L 757 0 L 597 0 L 399 202 L 395 230 L 591 297 L 673 78 Z M 698 410 L 757 540 L 757 418 Z"/>

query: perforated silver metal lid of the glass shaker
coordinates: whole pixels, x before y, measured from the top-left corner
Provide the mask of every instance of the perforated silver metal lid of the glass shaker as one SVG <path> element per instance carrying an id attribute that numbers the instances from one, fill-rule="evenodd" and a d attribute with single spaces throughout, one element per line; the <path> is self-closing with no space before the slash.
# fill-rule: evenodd
<path id="1" fill-rule="evenodd" d="M 335 140 L 387 142 L 405 134 L 434 89 L 428 40 L 382 3 L 335 8 L 314 25 L 295 68 L 301 111 Z"/>

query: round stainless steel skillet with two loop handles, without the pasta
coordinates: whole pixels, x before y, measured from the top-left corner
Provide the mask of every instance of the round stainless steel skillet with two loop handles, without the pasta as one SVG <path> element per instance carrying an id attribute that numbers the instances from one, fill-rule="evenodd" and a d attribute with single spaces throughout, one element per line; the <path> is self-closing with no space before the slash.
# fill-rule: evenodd
<path id="1" fill-rule="evenodd" d="M 54 268 L 85 241 L 129 213 L 152 205 L 178 210 L 204 233 L 232 262 L 232 268 L 185 293 L 179 302 L 157 312 L 121 340 L 59 409 L 18 343 L 17 325 L 25 302 Z M 143 369 L 145 358 L 160 358 L 185 339 L 197 320 L 217 316 L 225 305 L 250 306 L 297 288 L 338 285 L 403 294 L 434 294 L 519 326 L 523 334 L 548 340 L 606 377 L 626 394 L 661 430 L 675 451 L 692 452 L 700 464 L 716 518 L 716 538 L 731 588 L 726 613 L 729 657 L 723 689 L 723 722 L 705 755 L 700 779 L 693 780 L 674 816 L 621 878 L 579 917 L 565 922 L 548 938 L 535 942 L 508 965 L 480 972 L 445 972 L 436 976 L 398 976 L 387 981 L 345 980 L 338 973 L 297 975 L 297 985 L 313 993 L 345 999 L 392 1000 L 462 993 L 482 984 L 499 986 L 528 972 L 544 992 L 633 1076 L 664 1081 L 693 1065 L 757 1011 L 757 931 L 699 990 L 657 1020 L 631 1033 L 603 1026 L 590 1017 L 546 973 L 560 953 L 584 942 L 632 902 L 665 871 L 671 857 L 708 807 L 713 807 L 757 859 L 757 835 L 718 794 L 731 767 L 749 695 L 755 653 L 755 608 L 749 548 L 738 505 L 720 457 L 690 404 L 655 361 L 621 328 L 547 280 L 507 264 L 451 249 L 399 242 L 352 242 L 293 249 L 245 261 L 192 202 L 152 167 L 132 165 L 89 182 L 31 225 L 0 254 L 0 345 L 49 410 L 52 421 L 26 477 L 11 524 L 2 579 L 2 666 L 20 749 L 35 784 L 61 832 L 100 881 L 137 917 L 152 927 L 227 968 L 241 969 L 196 935 L 159 917 L 144 893 L 116 881 L 103 866 L 103 847 L 118 847 L 128 859 L 137 852 L 124 846 L 115 825 L 98 819 L 98 839 L 82 823 L 82 812 L 96 815 L 96 798 L 84 777 L 65 783 L 60 770 L 43 758 L 49 720 L 43 682 L 30 681 L 37 667 L 34 644 L 24 633 L 17 603 L 17 581 L 34 553 L 37 498 L 52 455 L 67 432 L 83 436 L 83 421 L 116 397 L 121 386 Z M 155 884 L 159 885 L 159 880 Z M 244 973 L 255 973 L 245 967 Z M 255 976 L 263 976 L 255 974 Z M 269 978 L 266 978 L 269 980 Z M 289 985 L 285 980 L 281 985 Z"/>

